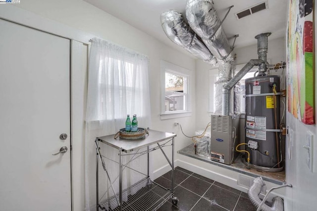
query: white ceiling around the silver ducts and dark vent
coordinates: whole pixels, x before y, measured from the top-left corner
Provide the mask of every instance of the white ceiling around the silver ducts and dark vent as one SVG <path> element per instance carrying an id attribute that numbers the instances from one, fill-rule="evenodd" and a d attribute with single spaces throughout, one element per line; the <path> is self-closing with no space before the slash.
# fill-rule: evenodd
<path id="1" fill-rule="evenodd" d="M 169 9 L 183 14 L 186 0 L 85 0 L 88 3 L 106 11 L 131 26 L 157 38 L 159 41 L 184 52 L 183 48 L 171 42 L 164 34 L 160 25 L 160 14 Z M 264 0 L 213 0 L 214 8 L 220 20 L 224 17 L 230 5 L 230 13 L 222 24 L 230 44 L 234 35 L 239 34 L 235 48 L 256 44 L 256 35 L 271 32 L 268 40 L 285 36 L 287 0 L 268 0 L 268 9 L 237 20 L 234 13 L 253 6 Z"/>

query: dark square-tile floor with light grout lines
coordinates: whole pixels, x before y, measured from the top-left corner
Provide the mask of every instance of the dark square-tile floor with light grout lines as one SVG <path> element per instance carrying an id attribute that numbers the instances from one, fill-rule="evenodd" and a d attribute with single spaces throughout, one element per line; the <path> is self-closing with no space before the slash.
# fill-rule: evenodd
<path id="1" fill-rule="evenodd" d="M 155 182 L 171 188 L 171 171 L 160 176 Z M 180 167 L 174 171 L 177 206 L 167 201 L 159 211 L 256 211 L 248 195 L 212 179 Z"/>

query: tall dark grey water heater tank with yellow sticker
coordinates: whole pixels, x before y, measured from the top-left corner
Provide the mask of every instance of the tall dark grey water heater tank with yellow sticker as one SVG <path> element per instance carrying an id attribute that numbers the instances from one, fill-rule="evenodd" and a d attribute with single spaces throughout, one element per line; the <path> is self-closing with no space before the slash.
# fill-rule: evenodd
<path id="1" fill-rule="evenodd" d="M 246 79 L 245 87 L 246 150 L 250 153 L 250 164 L 280 167 L 280 77 Z"/>

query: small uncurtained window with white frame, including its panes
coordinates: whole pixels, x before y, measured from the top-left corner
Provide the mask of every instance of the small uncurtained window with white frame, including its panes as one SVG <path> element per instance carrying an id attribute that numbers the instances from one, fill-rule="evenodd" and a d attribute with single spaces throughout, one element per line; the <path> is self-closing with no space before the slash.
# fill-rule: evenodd
<path id="1" fill-rule="evenodd" d="M 190 116 L 191 71 L 161 61 L 161 119 Z"/>

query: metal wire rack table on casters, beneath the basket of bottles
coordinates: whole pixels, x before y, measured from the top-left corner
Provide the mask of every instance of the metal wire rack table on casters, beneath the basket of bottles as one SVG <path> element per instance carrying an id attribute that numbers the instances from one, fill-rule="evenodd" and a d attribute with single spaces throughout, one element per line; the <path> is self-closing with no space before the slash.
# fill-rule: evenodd
<path id="1" fill-rule="evenodd" d="M 162 206 L 168 199 L 172 199 L 172 203 L 174 205 L 177 204 L 178 199 L 174 197 L 174 137 L 176 134 L 161 132 L 157 130 L 148 129 L 149 134 L 142 139 L 136 140 L 126 140 L 117 138 L 114 139 L 113 135 L 107 135 L 102 137 L 97 137 L 95 140 L 96 144 L 96 151 L 97 151 L 97 158 L 96 158 L 96 202 L 97 206 L 96 209 L 99 211 L 99 208 L 102 210 L 111 210 L 108 207 L 115 207 L 114 211 L 156 211 Z M 159 144 L 159 142 L 165 141 L 163 144 Z M 171 144 L 168 143 L 171 141 Z M 106 171 L 106 175 L 108 180 L 110 181 L 110 185 L 112 184 L 105 162 L 103 157 L 106 156 L 102 155 L 100 152 L 99 143 L 104 143 L 108 146 L 111 146 L 118 150 L 119 156 L 119 193 L 114 194 L 112 197 L 106 199 L 105 201 L 100 202 L 99 200 L 99 161 L 101 161 L 103 169 Z M 150 145 L 156 144 L 157 146 L 150 148 Z M 170 161 L 169 158 L 166 156 L 165 152 L 163 151 L 163 147 L 172 146 L 172 160 Z M 172 168 L 172 184 L 171 190 L 164 188 L 153 182 L 149 177 L 149 153 L 156 149 L 160 149 L 163 153 L 164 157 L 166 158 L 167 162 L 169 163 L 170 167 Z M 141 152 L 140 152 L 141 150 Z M 131 153 L 132 152 L 132 153 Z M 135 154 L 133 153 L 135 152 Z M 126 167 L 126 164 L 122 163 L 122 157 L 127 155 L 136 155 L 131 159 L 128 163 L 132 162 L 136 158 L 141 155 L 147 154 L 148 157 L 148 169 L 147 169 L 147 176 L 142 180 L 138 181 L 137 183 L 131 185 L 129 188 L 122 190 L 122 171 Z M 111 159 L 109 159 L 111 160 Z M 113 161 L 113 160 L 111 160 Z M 111 185 L 112 188 L 112 185 Z M 130 193 L 131 190 L 138 190 L 135 194 L 128 196 L 128 201 L 122 201 L 122 195 L 124 193 Z M 115 193 L 114 189 L 112 191 Z M 112 206 L 110 206 L 112 205 Z M 118 205 L 118 206 L 116 206 Z"/>

